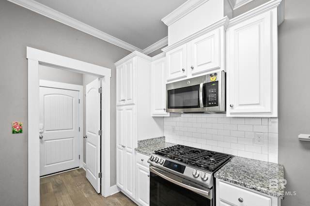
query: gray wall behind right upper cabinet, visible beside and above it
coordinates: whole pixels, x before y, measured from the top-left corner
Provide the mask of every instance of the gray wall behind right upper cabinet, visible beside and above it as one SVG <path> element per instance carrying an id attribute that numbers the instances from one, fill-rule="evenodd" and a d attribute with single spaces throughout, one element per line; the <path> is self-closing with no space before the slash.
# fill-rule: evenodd
<path id="1" fill-rule="evenodd" d="M 234 15 L 266 1 L 254 0 Z M 309 8 L 309 0 L 285 0 L 285 20 L 278 28 L 279 163 L 284 165 L 285 191 L 293 194 L 285 195 L 281 206 L 310 204 L 310 142 L 298 141 L 298 134 L 310 134 Z"/>

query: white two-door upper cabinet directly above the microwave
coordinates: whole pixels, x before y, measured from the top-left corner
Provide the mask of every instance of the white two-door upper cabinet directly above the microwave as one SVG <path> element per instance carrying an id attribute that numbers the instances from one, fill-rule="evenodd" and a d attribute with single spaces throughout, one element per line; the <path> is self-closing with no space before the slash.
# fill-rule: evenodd
<path id="1" fill-rule="evenodd" d="M 163 49 L 167 82 L 225 70 L 225 17 L 212 26 Z"/>

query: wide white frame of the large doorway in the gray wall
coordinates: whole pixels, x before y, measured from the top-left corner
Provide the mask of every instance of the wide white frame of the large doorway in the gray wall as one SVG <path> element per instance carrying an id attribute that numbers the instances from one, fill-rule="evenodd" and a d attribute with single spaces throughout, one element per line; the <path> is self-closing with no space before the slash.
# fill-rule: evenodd
<path id="1" fill-rule="evenodd" d="M 27 46 L 28 59 L 28 205 L 40 205 L 39 65 L 49 65 L 102 77 L 101 194 L 110 195 L 110 77 L 109 68 Z"/>

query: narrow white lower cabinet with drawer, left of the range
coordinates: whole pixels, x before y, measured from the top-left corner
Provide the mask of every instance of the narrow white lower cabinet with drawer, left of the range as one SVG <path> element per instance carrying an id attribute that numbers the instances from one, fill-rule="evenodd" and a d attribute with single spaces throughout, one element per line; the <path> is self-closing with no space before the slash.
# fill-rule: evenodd
<path id="1" fill-rule="evenodd" d="M 140 206 L 150 205 L 150 169 L 148 156 L 136 154 L 136 202 Z"/>

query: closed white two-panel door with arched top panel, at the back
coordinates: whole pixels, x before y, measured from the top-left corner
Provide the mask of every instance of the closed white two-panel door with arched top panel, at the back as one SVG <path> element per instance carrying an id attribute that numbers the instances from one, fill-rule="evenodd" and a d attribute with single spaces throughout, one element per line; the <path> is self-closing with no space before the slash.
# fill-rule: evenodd
<path id="1" fill-rule="evenodd" d="M 78 91 L 40 87 L 40 176 L 79 166 L 78 99 Z"/>

